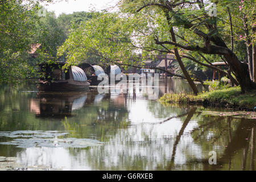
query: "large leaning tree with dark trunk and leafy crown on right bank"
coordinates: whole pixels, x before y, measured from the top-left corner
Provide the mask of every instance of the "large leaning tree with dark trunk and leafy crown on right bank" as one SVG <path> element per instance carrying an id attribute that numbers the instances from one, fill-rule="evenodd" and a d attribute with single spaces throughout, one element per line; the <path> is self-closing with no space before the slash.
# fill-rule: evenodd
<path id="1" fill-rule="evenodd" d="M 169 52 L 172 52 L 173 49 L 179 48 L 180 51 L 223 56 L 241 85 L 242 92 L 256 89 L 256 84 L 250 78 L 247 63 L 243 63 L 232 48 L 227 46 L 229 44 L 227 44 L 227 41 L 230 42 L 230 40 L 226 39 L 226 34 L 222 30 L 222 20 L 224 19 L 223 7 L 231 5 L 233 1 L 216 1 L 215 3 L 217 5 L 217 16 L 209 14 L 209 11 L 206 9 L 209 2 L 206 3 L 202 0 L 122 0 L 120 5 L 126 13 L 133 13 L 134 15 L 157 14 L 158 16 L 151 17 L 153 19 L 164 18 L 167 23 L 165 24 L 166 28 L 163 27 L 162 31 L 170 32 L 170 35 L 167 36 L 166 32 L 154 32 L 154 40 L 155 44 L 168 47 L 166 48 L 167 52 L 168 49 L 170 50 Z M 251 1 L 250 6 L 251 9 L 255 9 L 253 1 Z M 215 7 L 213 6 L 212 8 Z M 232 12 L 232 10 L 226 11 L 225 16 L 236 13 Z M 221 11 L 221 16 L 218 11 Z M 183 32 L 182 36 L 180 36 L 181 31 Z M 174 34 L 175 38 L 189 36 L 189 39 L 181 38 L 179 41 L 175 41 Z"/>

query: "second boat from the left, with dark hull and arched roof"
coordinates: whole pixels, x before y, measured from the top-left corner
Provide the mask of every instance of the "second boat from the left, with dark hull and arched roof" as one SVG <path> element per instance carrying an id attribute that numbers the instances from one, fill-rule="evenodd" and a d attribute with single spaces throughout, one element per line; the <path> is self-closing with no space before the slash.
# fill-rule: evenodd
<path id="1" fill-rule="evenodd" d="M 104 69 L 101 68 L 99 65 L 82 63 L 79 65 L 79 67 L 85 72 L 85 75 L 88 78 L 88 82 L 90 82 L 91 85 L 100 84 L 102 79 L 98 80 L 98 76 L 101 76 L 101 77 L 105 76 L 108 79 L 108 76 L 105 74 Z"/>

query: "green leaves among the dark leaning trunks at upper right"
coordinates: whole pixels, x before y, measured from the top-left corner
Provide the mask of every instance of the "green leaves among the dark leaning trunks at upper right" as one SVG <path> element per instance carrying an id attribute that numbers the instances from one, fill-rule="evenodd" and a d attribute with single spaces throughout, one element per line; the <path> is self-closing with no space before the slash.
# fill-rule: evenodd
<path id="1" fill-rule="evenodd" d="M 210 2 L 216 3 L 217 16 L 209 16 L 206 7 Z M 179 6 L 176 6 L 178 4 Z M 245 26 L 243 25 L 242 18 L 244 15 L 248 19 L 250 39 L 253 39 L 254 36 L 251 31 L 251 26 L 255 24 L 255 1 L 187 1 L 186 3 L 186 1 L 123 0 L 121 1 L 120 6 L 122 12 L 127 14 L 133 14 L 134 16 L 150 15 L 151 19 L 148 18 L 145 19 L 145 21 L 148 20 L 148 22 L 152 22 L 151 28 L 153 30 L 151 31 L 151 37 L 157 38 L 161 42 L 172 41 L 172 38 L 170 38 L 169 27 L 173 27 L 177 43 L 180 45 L 177 46 L 179 47 L 180 55 L 189 53 L 189 55 L 192 55 L 195 59 L 204 64 L 222 61 L 222 59 L 220 57 L 221 54 L 203 54 L 208 61 L 205 61 L 205 59 L 197 55 L 197 53 L 200 52 L 197 46 L 201 48 L 205 47 L 206 41 L 202 35 L 207 35 L 213 39 L 220 39 L 221 42 L 231 49 L 230 17 L 232 18 L 233 24 L 233 52 L 238 59 L 243 61 L 246 60 L 247 56 L 245 51 L 245 39 L 249 38 L 244 38 Z M 160 21 L 157 17 L 160 17 Z M 144 27 L 144 29 L 146 28 Z M 201 32 L 201 35 L 196 32 Z M 145 36 L 143 43 L 147 42 L 146 40 L 149 40 L 149 38 L 147 39 Z M 254 41 L 251 41 L 251 43 L 253 42 Z M 151 43 L 152 44 L 147 44 L 147 49 L 155 49 L 159 52 L 173 52 L 172 49 L 174 46 L 170 46 L 169 43 L 164 43 L 162 49 L 159 48 L 159 45 L 155 45 L 154 41 Z M 213 45 L 214 43 L 210 42 L 210 44 Z M 186 51 L 185 48 L 183 48 L 185 46 L 188 46 L 191 49 L 193 48 L 196 51 Z M 145 48 L 146 44 L 143 44 L 143 47 Z M 183 61 L 186 68 L 193 73 L 196 73 L 198 70 L 206 70 L 206 68 L 203 68 L 197 63 L 185 59 L 183 59 Z M 234 72 L 236 72 L 236 70 Z"/>

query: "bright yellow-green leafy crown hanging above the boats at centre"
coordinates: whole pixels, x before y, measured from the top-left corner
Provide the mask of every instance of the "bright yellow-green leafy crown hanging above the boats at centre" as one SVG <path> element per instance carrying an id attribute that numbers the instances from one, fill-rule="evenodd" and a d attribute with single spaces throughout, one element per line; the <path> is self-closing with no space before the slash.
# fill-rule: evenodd
<path id="1" fill-rule="evenodd" d="M 127 63 L 133 55 L 130 35 L 132 29 L 125 19 L 117 14 L 102 13 L 92 20 L 82 22 L 79 27 L 72 26 L 71 33 L 63 46 L 58 49 L 58 56 L 67 54 L 69 64 L 78 64 L 92 56 L 101 61 L 121 60 Z"/>

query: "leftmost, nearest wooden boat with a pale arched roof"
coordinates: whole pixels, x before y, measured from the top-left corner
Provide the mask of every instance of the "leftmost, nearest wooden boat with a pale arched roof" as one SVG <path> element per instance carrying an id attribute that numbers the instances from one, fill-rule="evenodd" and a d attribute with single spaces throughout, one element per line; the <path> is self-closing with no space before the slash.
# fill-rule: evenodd
<path id="1" fill-rule="evenodd" d="M 75 66 L 63 70 L 64 62 L 39 64 L 39 91 L 83 91 L 89 90 L 85 72 Z"/>

